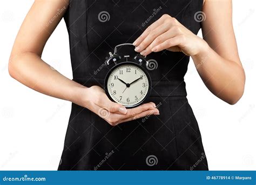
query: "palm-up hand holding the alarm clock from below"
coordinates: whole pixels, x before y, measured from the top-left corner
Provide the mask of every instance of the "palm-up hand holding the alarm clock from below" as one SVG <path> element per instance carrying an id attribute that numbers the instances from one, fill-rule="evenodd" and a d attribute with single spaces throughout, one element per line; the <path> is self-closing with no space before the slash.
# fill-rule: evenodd
<path id="1" fill-rule="evenodd" d="M 159 111 L 153 102 L 140 105 L 136 108 L 126 109 L 124 106 L 112 102 L 105 91 L 99 86 L 83 88 L 80 97 L 84 97 L 81 106 L 90 109 L 110 125 L 116 126 L 122 122 L 146 117 L 147 115 L 159 115 Z"/>

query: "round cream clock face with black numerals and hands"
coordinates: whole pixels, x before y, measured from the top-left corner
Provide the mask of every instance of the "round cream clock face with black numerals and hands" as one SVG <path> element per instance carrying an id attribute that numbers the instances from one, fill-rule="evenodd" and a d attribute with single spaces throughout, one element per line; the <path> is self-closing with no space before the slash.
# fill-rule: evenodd
<path id="1" fill-rule="evenodd" d="M 106 86 L 114 101 L 125 107 L 134 107 L 146 98 L 150 84 L 141 67 L 127 63 L 112 70 Z"/>

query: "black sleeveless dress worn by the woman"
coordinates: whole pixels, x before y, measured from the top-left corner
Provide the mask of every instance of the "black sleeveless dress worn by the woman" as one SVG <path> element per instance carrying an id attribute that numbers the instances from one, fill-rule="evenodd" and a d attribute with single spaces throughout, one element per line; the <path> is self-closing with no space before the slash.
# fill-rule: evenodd
<path id="1" fill-rule="evenodd" d="M 65 14 L 73 80 L 103 88 L 103 63 L 114 46 L 133 43 L 162 15 L 176 17 L 197 34 L 194 18 L 203 0 L 73 0 Z M 190 57 L 151 53 L 151 95 L 160 115 L 110 126 L 89 109 L 72 104 L 58 170 L 208 170 L 197 120 L 186 99 L 184 76 Z M 93 95 L 93 94 L 92 94 Z"/>

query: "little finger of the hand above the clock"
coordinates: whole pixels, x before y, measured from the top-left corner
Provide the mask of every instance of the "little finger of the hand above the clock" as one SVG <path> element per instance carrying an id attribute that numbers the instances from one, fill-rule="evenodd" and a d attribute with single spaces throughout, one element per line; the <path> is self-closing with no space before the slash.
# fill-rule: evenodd
<path id="1" fill-rule="evenodd" d="M 157 46 L 154 46 L 152 48 L 152 51 L 159 52 L 159 51 L 168 49 L 169 47 L 180 46 L 181 44 L 184 43 L 184 40 L 185 40 L 185 37 L 183 35 L 170 38 L 168 40 L 165 40 L 163 43 L 158 44 Z"/>

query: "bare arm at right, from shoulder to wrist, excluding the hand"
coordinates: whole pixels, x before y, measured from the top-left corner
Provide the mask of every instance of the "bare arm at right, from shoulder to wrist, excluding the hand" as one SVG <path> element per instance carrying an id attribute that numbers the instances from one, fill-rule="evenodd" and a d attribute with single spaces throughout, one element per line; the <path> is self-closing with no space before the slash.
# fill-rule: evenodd
<path id="1" fill-rule="evenodd" d="M 244 93 L 245 72 L 242 67 L 232 23 L 232 1 L 206 0 L 203 11 L 205 50 L 192 57 L 199 66 L 200 77 L 209 90 L 220 99 L 235 104 Z"/>

